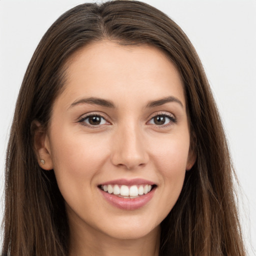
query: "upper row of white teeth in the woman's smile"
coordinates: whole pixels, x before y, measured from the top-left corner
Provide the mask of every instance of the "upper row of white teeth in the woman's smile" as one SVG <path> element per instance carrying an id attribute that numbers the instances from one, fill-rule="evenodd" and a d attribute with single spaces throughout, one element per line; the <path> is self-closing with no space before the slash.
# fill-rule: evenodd
<path id="1" fill-rule="evenodd" d="M 132 185 L 130 187 L 126 185 L 101 185 L 101 189 L 109 194 L 120 194 L 123 196 L 137 196 L 146 194 L 151 190 L 151 185 Z"/>

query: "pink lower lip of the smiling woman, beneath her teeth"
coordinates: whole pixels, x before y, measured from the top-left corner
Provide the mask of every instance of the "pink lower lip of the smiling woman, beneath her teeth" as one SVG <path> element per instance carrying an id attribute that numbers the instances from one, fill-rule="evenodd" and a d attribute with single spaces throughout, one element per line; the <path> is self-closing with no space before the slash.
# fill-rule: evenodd
<path id="1" fill-rule="evenodd" d="M 104 198 L 113 206 L 124 210 L 135 210 L 144 206 L 153 197 L 155 187 L 150 192 L 136 198 L 122 198 L 114 194 L 109 194 L 99 188 Z"/>

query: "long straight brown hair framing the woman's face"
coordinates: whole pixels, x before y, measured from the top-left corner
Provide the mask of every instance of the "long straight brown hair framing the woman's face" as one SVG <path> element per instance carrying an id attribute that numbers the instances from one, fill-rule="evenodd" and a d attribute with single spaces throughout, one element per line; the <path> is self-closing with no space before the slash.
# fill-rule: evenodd
<path id="1" fill-rule="evenodd" d="M 219 114 L 201 62 L 180 27 L 154 7 L 129 0 L 85 3 L 61 15 L 39 42 L 19 91 L 5 169 L 3 255 L 66 256 L 68 224 L 54 172 L 41 169 L 31 123 L 47 128 L 65 83 L 64 64 L 102 39 L 149 44 L 165 52 L 182 77 L 197 160 L 161 223 L 159 254 L 245 255 L 233 187 L 234 172 Z"/>

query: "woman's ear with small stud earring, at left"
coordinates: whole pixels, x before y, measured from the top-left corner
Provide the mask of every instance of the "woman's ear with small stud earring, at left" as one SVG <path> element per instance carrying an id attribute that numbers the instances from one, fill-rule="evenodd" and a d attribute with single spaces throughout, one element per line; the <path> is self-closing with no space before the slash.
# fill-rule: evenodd
<path id="1" fill-rule="evenodd" d="M 49 137 L 39 121 L 32 121 L 34 150 L 39 166 L 44 170 L 53 169 Z"/>

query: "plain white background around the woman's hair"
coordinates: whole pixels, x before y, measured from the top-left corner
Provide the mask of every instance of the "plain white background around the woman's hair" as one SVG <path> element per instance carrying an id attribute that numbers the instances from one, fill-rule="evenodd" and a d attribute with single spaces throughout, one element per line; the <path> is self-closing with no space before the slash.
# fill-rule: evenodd
<path id="1" fill-rule="evenodd" d="M 256 248 L 256 0 L 144 0 L 195 46 L 217 101 L 240 181 L 248 255 Z M 55 19 L 81 0 L 0 0 L 0 195 L 15 100 L 27 64 Z M 0 197 L 0 220 L 2 218 Z"/>

